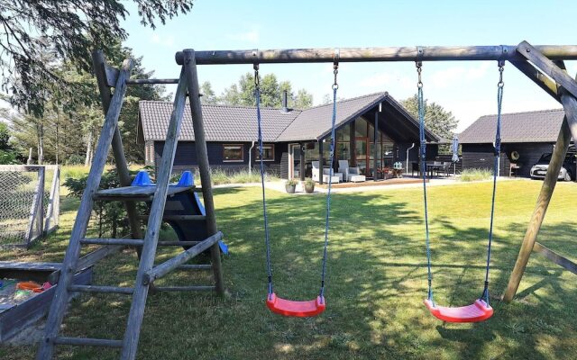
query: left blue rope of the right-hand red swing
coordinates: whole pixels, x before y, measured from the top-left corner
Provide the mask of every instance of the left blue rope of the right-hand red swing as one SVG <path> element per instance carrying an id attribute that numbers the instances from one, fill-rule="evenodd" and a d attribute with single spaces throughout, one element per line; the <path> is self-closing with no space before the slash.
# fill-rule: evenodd
<path id="1" fill-rule="evenodd" d="M 423 97 L 423 82 L 421 81 L 421 71 L 423 64 L 417 61 L 417 107 L 418 107 L 418 130 L 420 140 L 421 175 L 423 177 L 423 200 L 425 203 L 425 242 L 426 242 L 426 271 L 428 280 L 427 299 L 433 304 L 433 274 L 431 273 L 431 244 L 429 238 L 429 216 L 426 204 L 426 138 L 425 138 L 425 100 Z"/>

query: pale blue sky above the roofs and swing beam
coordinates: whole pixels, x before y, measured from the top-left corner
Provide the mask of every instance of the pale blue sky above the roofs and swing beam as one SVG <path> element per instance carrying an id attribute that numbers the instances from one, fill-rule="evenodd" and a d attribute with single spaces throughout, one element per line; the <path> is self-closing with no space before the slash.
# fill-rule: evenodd
<path id="1" fill-rule="evenodd" d="M 180 49 L 288 49 L 427 45 L 576 44 L 575 1 L 232 1 L 196 0 L 192 12 L 152 31 L 142 27 L 134 8 L 124 22 L 126 45 L 143 56 L 158 77 L 176 77 Z M 572 75 L 577 63 L 567 62 Z M 200 81 L 217 94 L 250 65 L 201 66 Z M 305 88 L 321 103 L 331 92 L 332 64 L 261 65 Z M 425 96 L 444 106 L 464 130 L 483 114 L 495 113 L 495 61 L 428 62 L 423 66 Z M 559 108 L 510 64 L 505 69 L 504 112 Z M 339 96 L 389 91 L 398 100 L 416 93 L 414 63 L 343 63 Z M 172 90 L 169 88 L 169 90 Z"/>

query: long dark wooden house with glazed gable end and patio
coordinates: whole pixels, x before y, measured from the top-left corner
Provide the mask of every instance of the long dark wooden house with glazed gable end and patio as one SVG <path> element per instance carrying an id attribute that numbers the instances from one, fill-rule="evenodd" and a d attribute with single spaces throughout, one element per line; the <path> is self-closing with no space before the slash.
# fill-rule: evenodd
<path id="1" fill-rule="evenodd" d="M 333 105 L 296 110 L 289 109 L 286 101 L 283 103 L 281 109 L 261 109 L 263 161 L 267 171 L 282 178 L 311 177 L 312 161 L 322 158 L 326 164 L 329 158 Z M 145 145 L 146 164 L 157 166 L 172 103 L 141 101 L 139 106 L 138 141 Z M 259 165 L 254 107 L 203 105 L 202 111 L 208 159 L 213 168 L 234 171 Z M 197 166 L 194 139 L 187 107 L 175 170 Z M 408 167 L 409 162 L 418 161 L 418 139 L 418 122 L 388 93 L 337 103 L 335 159 L 346 159 L 350 166 L 359 166 L 368 178 L 375 179 L 382 167 L 394 162 L 403 162 Z M 431 142 L 428 156 L 434 159 L 439 138 L 426 130 L 426 140 Z"/>

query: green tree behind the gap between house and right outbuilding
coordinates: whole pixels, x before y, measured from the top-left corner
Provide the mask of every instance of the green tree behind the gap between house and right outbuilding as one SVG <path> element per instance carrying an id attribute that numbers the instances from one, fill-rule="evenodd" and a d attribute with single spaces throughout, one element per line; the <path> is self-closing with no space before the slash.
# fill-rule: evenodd
<path id="1" fill-rule="evenodd" d="M 454 130 L 457 128 L 457 121 L 452 112 L 444 110 L 443 106 L 438 103 L 425 103 L 425 125 L 429 130 L 435 132 L 442 139 L 453 139 Z M 407 109 L 415 119 L 418 119 L 418 98 L 417 94 L 401 101 L 401 104 Z"/>

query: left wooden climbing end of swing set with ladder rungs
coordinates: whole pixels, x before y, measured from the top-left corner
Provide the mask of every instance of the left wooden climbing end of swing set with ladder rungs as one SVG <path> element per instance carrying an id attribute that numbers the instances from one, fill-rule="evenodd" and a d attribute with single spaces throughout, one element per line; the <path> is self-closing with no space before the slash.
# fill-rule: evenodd
<path id="1" fill-rule="evenodd" d="M 170 116 L 169 129 L 164 145 L 164 151 L 160 161 L 159 172 L 157 175 L 157 184 L 154 188 L 139 188 L 129 186 L 130 176 L 128 176 L 127 166 L 124 159 L 124 150 L 120 132 L 117 129 L 118 117 L 124 101 L 126 92 L 126 82 L 130 77 L 132 61 L 124 60 L 123 67 L 120 70 L 108 67 L 105 64 L 104 57 L 101 53 L 93 54 L 95 63 L 96 77 L 100 92 L 103 97 L 105 106 L 105 124 L 103 125 L 96 147 L 90 172 L 88 174 L 87 186 L 82 195 L 78 215 L 70 234 L 69 247 L 62 263 L 60 271 L 60 280 L 56 288 L 55 296 L 50 304 L 50 312 L 46 322 L 45 335 L 41 339 L 41 345 L 37 354 L 37 359 L 51 359 L 54 354 L 54 348 L 57 345 L 69 346 L 93 346 L 93 347 L 119 347 L 122 348 L 121 359 L 134 359 L 138 347 L 138 340 L 142 327 L 144 316 L 144 307 L 149 288 L 154 280 L 167 275 L 170 271 L 181 269 L 212 269 L 215 275 L 214 286 L 173 286 L 173 287 L 156 287 L 159 291 L 206 291 L 215 290 L 219 294 L 224 293 L 220 265 L 220 250 L 218 241 L 222 239 L 223 234 L 216 229 L 214 202 L 212 189 L 210 187 L 210 172 L 208 167 L 208 157 L 206 153 L 206 139 L 204 136 L 202 109 L 198 94 L 198 79 L 194 50 L 188 50 L 186 53 L 185 64 L 182 66 L 179 76 L 179 85 L 175 95 L 172 114 Z M 114 79 L 115 81 L 111 81 Z M 114 95 L 109 98 L 110 90 L 105 88 L 105 84 L 114 85 Z M 188 91 L 187 91 L 188 89 Z M 104 91 L 103 91 L 104 90 Z M 191 242 L 193 245 L 188 250 L 183 251 L 178 256 L 165 261 L 164 263 L 154 266 L 157 246 L 161 245 L 184 245 L 183 242 L 160 241 L 159 232 L 162 223 L 165 203 L 169 193 L 180 191 L 194 191 L 190 187 L 180 187 L 169 185 L 169 178 L 172 172 L 174 157 L 179 139 L 181 122 L 184 114 L 187 96 L 189 98 L 190 109 L 193 117 L 193 128 L 195 131 L 195 142 L 197 149 L 198 166 L 202 184 L 203 198 L 206 208 L 206 227 L 207 233 L 212 234 L 203 241 Z M 107 111 L 106 111 L 107 110 Z M 108 150 L 111 147 L 114 150 L 115 163 L 119 170 L 122 188 L 114 189 L 114 196 L 111 197 L 111 190 L 98 191 L 100 179 L 105 168 L 105 161 Z M 124 175 L 123 175 L 124 174 Z M 140 233 L 140 223 L 135 211 L 134 201 L 142 199 L 151 200 L 150 216 L 148 217 L 148 226 L 143 238 L 135 238 L 134 235 Z M 133 238 L 86 238 L 87 226 L 90 214 L 93 211 L 96 199 L 107 199 L 109 201 L 124 201 L 131 223 L 131 232 Z M 91 254 L 80 258 L 80 248 L 83 245 L 103 245 Z M 103 257 L 118 251 L 124 247 L 137 247 L 140 249 L 140 263 L 133 287 L 116 287 L 116 286 L 99 286 L 99 285 L 74 285 L 72 283 L 75 272 L 83 267 L 93 265 Z M 210 249 L 212 265 L 190 266 L 183 265 L 192 257 L 197 256 L 206 249 Z M 90 254 L 89 254 L 90 255 Z M 102 338 L 68 338 L 59 336 L 60 326 L 64 319 L 65 312 L 72 293 L 121 293 L 133 296 L 130 313 L 124 339 L 102 339 Z"/>

